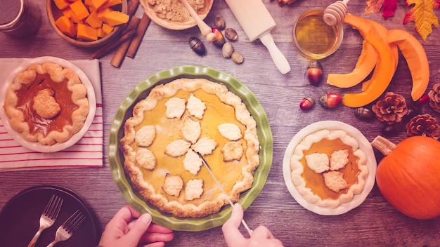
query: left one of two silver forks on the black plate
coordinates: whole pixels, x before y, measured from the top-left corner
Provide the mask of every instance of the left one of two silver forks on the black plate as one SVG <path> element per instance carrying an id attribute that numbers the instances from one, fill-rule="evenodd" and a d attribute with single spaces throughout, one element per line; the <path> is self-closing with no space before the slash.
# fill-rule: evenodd
<path id="1" fill-rule="evenodd" d="M 41 232 L 48 227 L 51 227 L 60 213 L 61 205 L 63 204 L 63 199 L 59 196 L 53 194 L 51 199 L 48 201 L 46 208 L 44 208 L 43 213 L 40 217 L 40 227 L 37 233 L 34 235 L 27 247 L 33 247 L 37 243 Z"/>

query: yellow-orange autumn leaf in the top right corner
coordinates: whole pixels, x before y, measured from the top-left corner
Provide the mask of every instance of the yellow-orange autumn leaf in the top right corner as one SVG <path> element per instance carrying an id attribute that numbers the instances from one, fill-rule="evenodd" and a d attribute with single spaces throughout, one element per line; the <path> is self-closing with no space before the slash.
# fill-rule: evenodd
<path id="1" fill-rule="evenodd" d="M 413 21 L 415 31 L 425 41 L 432 32 L 432 25 L 439 27 L 439 19 L 434 14 L 434 8 L 439 8 L 439 5 L 440 0 L 406 0 L 406 6 L 413 6 L 413 8 L 405 14 L 403 25 Z"/>

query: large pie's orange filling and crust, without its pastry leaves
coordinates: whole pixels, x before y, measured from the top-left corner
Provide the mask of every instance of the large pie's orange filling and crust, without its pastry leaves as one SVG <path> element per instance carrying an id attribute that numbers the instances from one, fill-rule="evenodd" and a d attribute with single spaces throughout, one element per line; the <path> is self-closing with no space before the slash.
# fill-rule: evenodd
<path id="1" fill-rule="evenodd" d="M 190 85 L 189 88 L 188 85 Z M 241 100 L 239 105 L 227 104 L 224 102 L 226 99 L 221 100 L 224 98 L 224 93 L 228 93 L 225 89 L 221 84 L 205 79 L 178 79 L 165 84 L 165 86 L 153 88 L 148 98 L 134 107 L 135 116 L 126 121 L 125 136 L 121 140 L 125 170 L 145 201 L 153 204 L 160 211 L 183 218 L 200 218 L 218 212 L 227 203 L 226 197 L 222 195 L 205 166 L 201 165 L 197 172 L 190 173 L 184 165 L 186 162 L 185 154 L 179 156 L 167 154 L 167 147 L 170 143 L 186 140 L 182 129 L 185 128 L 187 119 L 200 123 L 200 135 L 197 141 L 210 138 L 216 143 L 212 152 L 202 154 L 202 156 L 231 199 L 238 201 L 240 192 L 252 186 L 252 173 L 258 166 L 259 159 L 257 135 L 252 131 L 252 128 L 255 128 L 255 122 L 247 109 L 247 113 L 242 112 Z M 173 98 L 184 99 L 188 105 L 190 97 L 198 98 L 205 105 L 202 118 L 190 114 L 188 109 L 185 109 L 179 117 L 167 116 L 167 102 L 169 100 Z M 239 98 L 234 95 L 233 99 Z M 235 102 L 234 100 L 233 102 Z M 146 105 L 154 105 L 154 107 L 146 107 Z M 247 114 L 244 118 L 245 121 L 238 120 L 240 119 L 237 117 L 238 112 Z M 134 122 L 136 124 L 133 124 Z M 218 126 L 224 123 L 238 126 L 240 133 L 242 133 L 241 138 L 234 140 L 243 149 L 243 154 L 239 159 L 225 161 L 224 152 L 221 149 L 231 140 L 219 132 Z M 146 147 L 139 145 L 133 136 L 144 126 L 154 126 L 155 129 L 153 142 Z M 248 133 L 249 131 L 251 133 Z M 194 145 L 196 144 L 191 143 L 188 149 L 194 149 Z M 136 160 L 136 152 L 144 148 L 154 154 L 154 168 L 145 168 Z M 167 175 L 178 176 L 183 181 L 183 187 L 178 189 L 176 194 L 170 194 L 167 189 L 164 189 Z M 186 186 L 190 180 L 202 180 L 202 193 L 200 196 L 195 196 L 194 199 L 187 198 Z"/>

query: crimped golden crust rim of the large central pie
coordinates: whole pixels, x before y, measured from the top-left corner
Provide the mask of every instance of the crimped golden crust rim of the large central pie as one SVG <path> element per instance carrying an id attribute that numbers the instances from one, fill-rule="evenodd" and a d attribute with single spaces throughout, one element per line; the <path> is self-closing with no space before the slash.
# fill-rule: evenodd
<path id="1" fill-rule="evenodd" d="M 167 84 L 155 86 L 144 100 L 136 103 L 131 116 L 124 124 L 124 137 L 121 139 L 119 148 L 124 154 L 124 169 L 131 178 L 131 183 L 136 191 L 143 196 L 143 199 L 153 206 L 159 208 L 162 213 L 169 213 L 181 218 L 202 218 L 213 213 L 218 213 L 224 205 L 228 203 L 226 196 L 221 194 L 215 201 L 205 201 L 199 206 L 192 203 L 182 205 L 176 201 L 168 201 L 164 196 L 156 194 L 152 185 L 143 180 L 143 173 L 134 163 L 135 154 L 130 144 L 134 142 L 134 127 L 143 121 L 143 112 L 154 109 L 157 101 L 163 98 L 172 98 L 177 91 L 184 90 L 194 92 L 202 89 L 206 93 L 216 95 L 221 102 L 231 105 L 235 109 L 235 118 L 247 128 L 243 138 L 247 141 L 245 156 L 247 166 L 242 168 L 241 180 L 235 182 L 231 194 L 228 196 L 235 202 L 240 199 L 240 194 L 252 187 L 254 181 L 254 170 L 259 166 L 259 140 L 257 136 L 257 123 L 247 110 L 246 105 L 238 95 L 228 91 L 226 86 L 209 81 L 207 79 L 176 79 Z"/>

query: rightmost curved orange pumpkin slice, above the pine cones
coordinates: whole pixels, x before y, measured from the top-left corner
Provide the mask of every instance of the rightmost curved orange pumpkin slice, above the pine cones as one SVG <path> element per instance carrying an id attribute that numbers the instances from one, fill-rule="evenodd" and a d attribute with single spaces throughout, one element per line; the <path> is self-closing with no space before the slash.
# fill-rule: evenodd
<path id="1" fill-rule="evenodd" d="M 429 83 L 429 62 L 422 44 L 403 29 L 390 29 L 387 33 L 390 44 L 396 44 L 406 59 L 413 79 L 411 98 L 414 101 L 422 97 Z"/>

